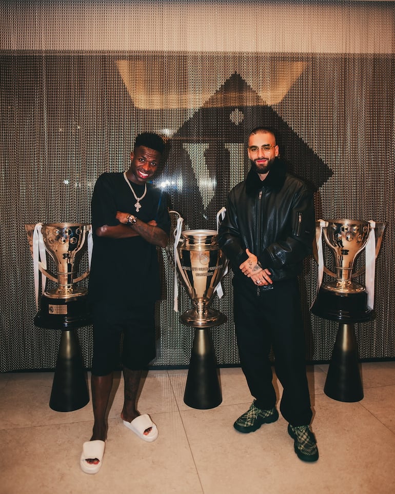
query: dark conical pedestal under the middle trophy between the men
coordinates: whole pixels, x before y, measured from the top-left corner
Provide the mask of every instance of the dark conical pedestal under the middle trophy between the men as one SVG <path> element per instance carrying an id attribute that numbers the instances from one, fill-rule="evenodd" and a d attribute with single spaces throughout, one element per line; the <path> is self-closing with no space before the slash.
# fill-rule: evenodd
<path id="1" fill-rule="evenodd" d="M 215 408 L 222 402 L 222 392 L 208 328 L 195 328 L 184 403 L 201 410 Z"/>

